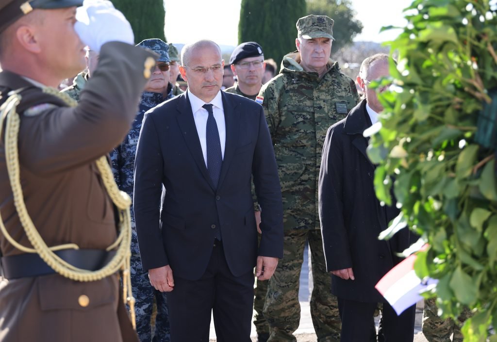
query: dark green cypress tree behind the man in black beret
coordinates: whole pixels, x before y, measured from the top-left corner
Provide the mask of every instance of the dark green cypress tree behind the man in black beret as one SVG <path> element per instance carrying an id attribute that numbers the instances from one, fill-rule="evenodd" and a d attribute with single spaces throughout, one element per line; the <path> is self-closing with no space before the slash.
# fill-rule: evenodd
<path id="1" fill-rule="evenodd" d="M 264 58 L 280 63 L 284 55 L 295 51 L 295 24 L 305 15 L 305 0 L 242 0 L 238 42 L 255 41 Z"/>

